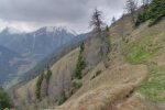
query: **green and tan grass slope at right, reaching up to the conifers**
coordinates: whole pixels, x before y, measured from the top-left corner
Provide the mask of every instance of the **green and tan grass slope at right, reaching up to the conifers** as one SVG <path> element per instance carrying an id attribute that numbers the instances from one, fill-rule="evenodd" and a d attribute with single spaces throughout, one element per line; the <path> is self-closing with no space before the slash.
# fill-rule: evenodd
<path id="1" fill-rule="evenodd" d="M 141 84 L 138 92 L 152 101 L 165 102 L 165 21 L 151 28 L 144 25 L 132 33 L 138 37 L 127 44 L 124 55 L 131 64 L 144 64 L 148 67 L 150 76 Z"/>

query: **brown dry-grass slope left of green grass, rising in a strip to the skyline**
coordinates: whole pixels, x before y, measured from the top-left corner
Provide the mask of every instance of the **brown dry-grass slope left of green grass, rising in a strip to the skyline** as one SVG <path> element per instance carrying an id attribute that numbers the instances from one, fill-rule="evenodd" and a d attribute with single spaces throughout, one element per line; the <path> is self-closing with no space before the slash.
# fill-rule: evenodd
<path id="1" fill-rule="evenodd" d="M 110 40 L 112 51 L 109 54 L 110 67 L 105 68 L 100 63 L 84 77 L 82 87 L 63 106 L 55 110 L 109 110 L 116 108 L 114 103 L 129 96 L 141 81 L 146 78 L 147 68 L 145 65 L 132 65 L 122 55 L 121 44 L 121 22 L 110 29 Z M 124 34 L 132 32 L 132 25 L 128 22 Z M 101 74 L 94 78 L 98 70 Z M 116 108 L 117 109 L 117 108 Z M 121 109 L 119 109 L 121 110 Z"/>

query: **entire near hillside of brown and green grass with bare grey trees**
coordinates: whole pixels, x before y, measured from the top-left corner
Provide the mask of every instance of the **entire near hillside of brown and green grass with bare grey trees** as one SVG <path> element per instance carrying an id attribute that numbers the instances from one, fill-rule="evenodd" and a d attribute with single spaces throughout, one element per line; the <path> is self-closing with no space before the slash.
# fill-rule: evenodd
<path id="1" fill-rule="evenodd" d="M 35 78 L 14 91 L 15 105 L 28 110 L 164 110 L 165 20 L 133 28 L 130 19 L 123 15 L 109 29 L 108 65 L 100 54 L 102 45 L 98 46 L 102 43 L 92 36 L 80 47 L 85 47 L 82 57 L 76 48 L 52 66 L 48 96 L 42 85 L 36 100 Z M 76 62 L 92 56 L 99 58 L 86 61 L 89 68 L 74 79 Z"/>

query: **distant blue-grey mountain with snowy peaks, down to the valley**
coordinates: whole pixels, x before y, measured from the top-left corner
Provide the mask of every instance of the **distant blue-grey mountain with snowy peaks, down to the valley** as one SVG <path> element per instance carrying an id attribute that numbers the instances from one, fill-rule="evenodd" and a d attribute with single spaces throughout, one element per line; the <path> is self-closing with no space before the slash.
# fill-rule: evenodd
<path id="1" fill-rule="evenodd" d="M 10 54 L 3 55 L 1 64 L 6 65 L 0 67 L 0 75 L 3 74 L 6 78 L 2 77 L 3 80 L 1 79 L 0 82 L 6 84 L 9 79 L 16 77 L 14 82 L 10 82 L 15 84 L 21 75 L 28 73 L 47 55 L 59 53 L 61 47 L 78 42 L 81 37 L 84 35 L 77 37 L 76 32 L 67 28 L 45 26 L 31 33 L 18 32 L 10 28 L 4 29 L 0 32 L 0 45 L 18 53 L 18 56 L 10 56 L 8 59 L 4 57 Z"/>

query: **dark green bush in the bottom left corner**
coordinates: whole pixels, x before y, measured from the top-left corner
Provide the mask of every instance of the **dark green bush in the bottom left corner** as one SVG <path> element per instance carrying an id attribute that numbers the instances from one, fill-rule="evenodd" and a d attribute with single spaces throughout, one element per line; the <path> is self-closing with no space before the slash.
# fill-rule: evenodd
<path id="1" fill-rule="evenodd" d="M 6 108 L 11 108 L 11 99 L 8 96 L 8 94 L 0 87 L 0 110 L 3 110 Z"/>

